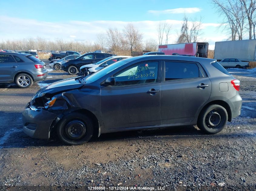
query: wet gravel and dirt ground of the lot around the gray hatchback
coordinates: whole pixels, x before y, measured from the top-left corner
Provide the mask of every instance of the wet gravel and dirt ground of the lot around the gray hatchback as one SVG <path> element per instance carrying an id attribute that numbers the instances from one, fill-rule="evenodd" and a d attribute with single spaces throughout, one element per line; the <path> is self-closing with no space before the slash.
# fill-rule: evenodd
<path id="1" fill-rule="evenodd" d="M 243 107 L 222 132 L 204 135 L 197 126 L 119 132 L 79 146 L 22 132 L 32 95 L 68 73 L 50 71 L 29 89 L 0 86 L 0 190 L 256 190 L 256 73 L 228 71 L 241 81 Z"/>

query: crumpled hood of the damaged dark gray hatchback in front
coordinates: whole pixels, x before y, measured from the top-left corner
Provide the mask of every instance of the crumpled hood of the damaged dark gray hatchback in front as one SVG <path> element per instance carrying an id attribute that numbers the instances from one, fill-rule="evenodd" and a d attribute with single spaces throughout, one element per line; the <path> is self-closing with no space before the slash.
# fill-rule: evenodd
<path id="1" fill-rule="evenodd" d="M 80 83 L 77 79 L 77 77 L 69 78 L 61 81 L 54 82 L 52 84 L 49 84 L 43 88 L 41 88 L 35 96 L 32 98 L 35 99 L 37 97 L 42 97 L 45 94 L 55 94 L 59 92 L 65 92 L 72 89 L 78 89 L 81 88 L 84 83 Z"/>

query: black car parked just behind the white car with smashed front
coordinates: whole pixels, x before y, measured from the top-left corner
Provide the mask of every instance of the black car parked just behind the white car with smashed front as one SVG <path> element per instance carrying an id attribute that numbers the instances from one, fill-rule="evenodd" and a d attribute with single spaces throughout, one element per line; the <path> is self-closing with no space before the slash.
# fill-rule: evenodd
<path id="1" fill-rule="evenodd" d="M 76 75 L 81 66 L 99 62 L 109 56 L 116 55 L 107 53 L 85 53 L 76 59 L 63 61 L 61 63 L 61 69 L 68 72 L 70 75 Z"/>

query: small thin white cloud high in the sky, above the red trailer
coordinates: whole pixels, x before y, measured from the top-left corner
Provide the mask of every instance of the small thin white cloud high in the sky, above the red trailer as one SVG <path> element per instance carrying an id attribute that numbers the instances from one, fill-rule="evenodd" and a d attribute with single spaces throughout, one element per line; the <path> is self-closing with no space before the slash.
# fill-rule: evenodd
<path id="1" fill-rule="evenodd" d="M 201 9 L 197 7 L 191 8 L 176 8 L 176 9 L 165 9 L 165 10 L 149 10 L 149 13 L 153 14 L 179 14 L 179 13 L 196 13 L 200 12 Z"/>

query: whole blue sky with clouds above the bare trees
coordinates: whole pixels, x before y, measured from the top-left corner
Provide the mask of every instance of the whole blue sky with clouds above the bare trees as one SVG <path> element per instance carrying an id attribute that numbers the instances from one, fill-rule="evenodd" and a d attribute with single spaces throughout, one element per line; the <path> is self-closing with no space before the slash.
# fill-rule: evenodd
<path id="1" fill-rule="evenodd" d="M 96 40 L 98 32 L 108 27 L 123 26 L 132 22 L 144 34 L 144 40 L 157 40 L 156 26 L 168 20 L 173 25 L 171 40 L 174 43 L 184 12 L 188 18 L 203 17 L 204 30 L 201 40 L 211 45 L 226 40 L 226 34 L 218 30 L 222 18 L 208 1 L 0 1 L 1 40 L 26 37 L 43 37 L 48 40 Z M 15 29 L 15 30 L 14 30 Z"/>

